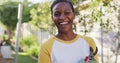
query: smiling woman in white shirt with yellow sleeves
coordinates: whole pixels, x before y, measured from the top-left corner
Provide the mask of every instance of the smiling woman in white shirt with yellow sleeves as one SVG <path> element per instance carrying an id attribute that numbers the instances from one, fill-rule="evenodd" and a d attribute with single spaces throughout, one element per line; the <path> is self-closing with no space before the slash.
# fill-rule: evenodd
<path id="1" fill-rule="evenodd" d="M 75 13 L 70 1 L 54 1 L 51 5 L 51 15 L 58 34 L 41 46 L 39 63 L 82 63 L 98 60 L 94 41 L 73 32 Z"/>

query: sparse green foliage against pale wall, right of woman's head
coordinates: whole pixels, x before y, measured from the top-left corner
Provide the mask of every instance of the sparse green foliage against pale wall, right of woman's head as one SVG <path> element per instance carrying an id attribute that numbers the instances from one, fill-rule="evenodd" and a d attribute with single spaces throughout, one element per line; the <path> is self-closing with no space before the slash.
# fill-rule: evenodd
<path id="1" fill-rule="evenodd" d="M 92 31 L 95 23 L 106 32 L 114 29 L 116 25 L 112 21 L 112 16 L 117 7 L 111 2 L 111 0 L 93 0 L 86 4 L 80 4 L 79 1 L 74 4 L 81 31 L 85 34 Z"/>

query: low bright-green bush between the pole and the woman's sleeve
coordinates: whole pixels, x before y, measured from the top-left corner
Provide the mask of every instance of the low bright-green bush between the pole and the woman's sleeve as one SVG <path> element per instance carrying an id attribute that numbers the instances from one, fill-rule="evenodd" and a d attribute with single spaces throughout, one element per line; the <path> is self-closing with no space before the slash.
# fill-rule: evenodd
<path id="1" fill-rule="evenodd" d="M 36 36 L 28 36 L 21 39 L 22 49 L 29 55 L 38 56 L 39 43 Z"/>

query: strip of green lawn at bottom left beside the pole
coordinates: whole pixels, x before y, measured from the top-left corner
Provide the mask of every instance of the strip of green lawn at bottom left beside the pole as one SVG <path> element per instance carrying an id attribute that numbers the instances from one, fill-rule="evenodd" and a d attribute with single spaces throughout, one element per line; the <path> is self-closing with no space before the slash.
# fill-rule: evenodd
<path id="1" fill-rule="evenodd" d="M 19 55 L 18 55 L 18 63 L 38 63 L 38 61 L 31 58 L 26 53 L 19 53 Z"/>

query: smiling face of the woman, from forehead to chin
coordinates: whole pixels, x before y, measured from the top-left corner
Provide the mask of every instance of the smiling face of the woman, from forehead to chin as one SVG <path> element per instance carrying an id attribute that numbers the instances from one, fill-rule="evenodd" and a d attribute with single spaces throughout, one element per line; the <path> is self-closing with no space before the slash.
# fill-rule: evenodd
<path id="1" fill-rule="evenodd" d="M 68 3 L 57 3 L 52 9 L 52 18 L 59 32 L 72 31 L 75 15 Z"/>

